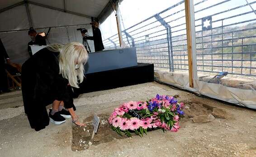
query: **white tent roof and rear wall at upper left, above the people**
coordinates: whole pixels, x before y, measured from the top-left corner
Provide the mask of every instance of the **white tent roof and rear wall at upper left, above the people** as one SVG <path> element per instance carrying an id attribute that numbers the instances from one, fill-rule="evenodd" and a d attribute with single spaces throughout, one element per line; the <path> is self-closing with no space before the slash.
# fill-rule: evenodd
<path id="1" fill-rule="evenodd" d="M 47 44 L 82 41 L 77 28 L 88 29 L 91 17 L 101 22 L 112 11 L 115 0 L 1 0 L 0 38 L 12 62 L 24 63 L 27 52 L 29 27 L 47 32 L 52 27 Z M 94 51 L 93 41 L 89 41 Z"/>

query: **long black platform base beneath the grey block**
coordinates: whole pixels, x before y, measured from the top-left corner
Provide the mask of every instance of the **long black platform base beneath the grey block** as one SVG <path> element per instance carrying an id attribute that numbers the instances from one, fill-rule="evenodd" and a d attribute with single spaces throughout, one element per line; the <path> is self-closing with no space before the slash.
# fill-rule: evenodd
<path id="1" fill-rule="evenodd" d="M 86 79 L 79 85 L 78 93 L 109 90 L 118 87 L 137 85 L 154 81 L 154 64 L 138 63 L 136 67 L 127 67 L 85 75 Z"/>

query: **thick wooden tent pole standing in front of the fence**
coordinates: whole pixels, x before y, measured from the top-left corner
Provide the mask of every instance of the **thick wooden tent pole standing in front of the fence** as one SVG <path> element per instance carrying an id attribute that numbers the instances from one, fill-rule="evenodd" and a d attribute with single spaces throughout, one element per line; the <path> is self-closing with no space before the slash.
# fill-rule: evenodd
<path id="1" fill-rule="evenodd" d="M 195 25 L 194 25 L 194 2 L 185 0 L 187 49 L 189 63 L 189 82 L 190 87 L 194 88 L 194 81 L 197 80 L 196 66 L 196 44 L 195 44 Z"/>

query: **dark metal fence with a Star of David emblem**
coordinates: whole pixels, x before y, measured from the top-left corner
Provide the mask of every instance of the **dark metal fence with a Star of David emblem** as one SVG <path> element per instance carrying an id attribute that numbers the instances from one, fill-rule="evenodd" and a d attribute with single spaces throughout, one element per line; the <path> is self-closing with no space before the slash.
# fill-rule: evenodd
<path id="1" fill-rule="evenodd" d="M 197 70 L 256 76 L 256 1 L 212 2 L 194 4 Z M 136 47 L 139 63 L 171 72 L 188 70 L 184 0 L 123 30 L 122 36 Z M 118 35 L 104 40 L 104 45 L 118 48 Z"/>

